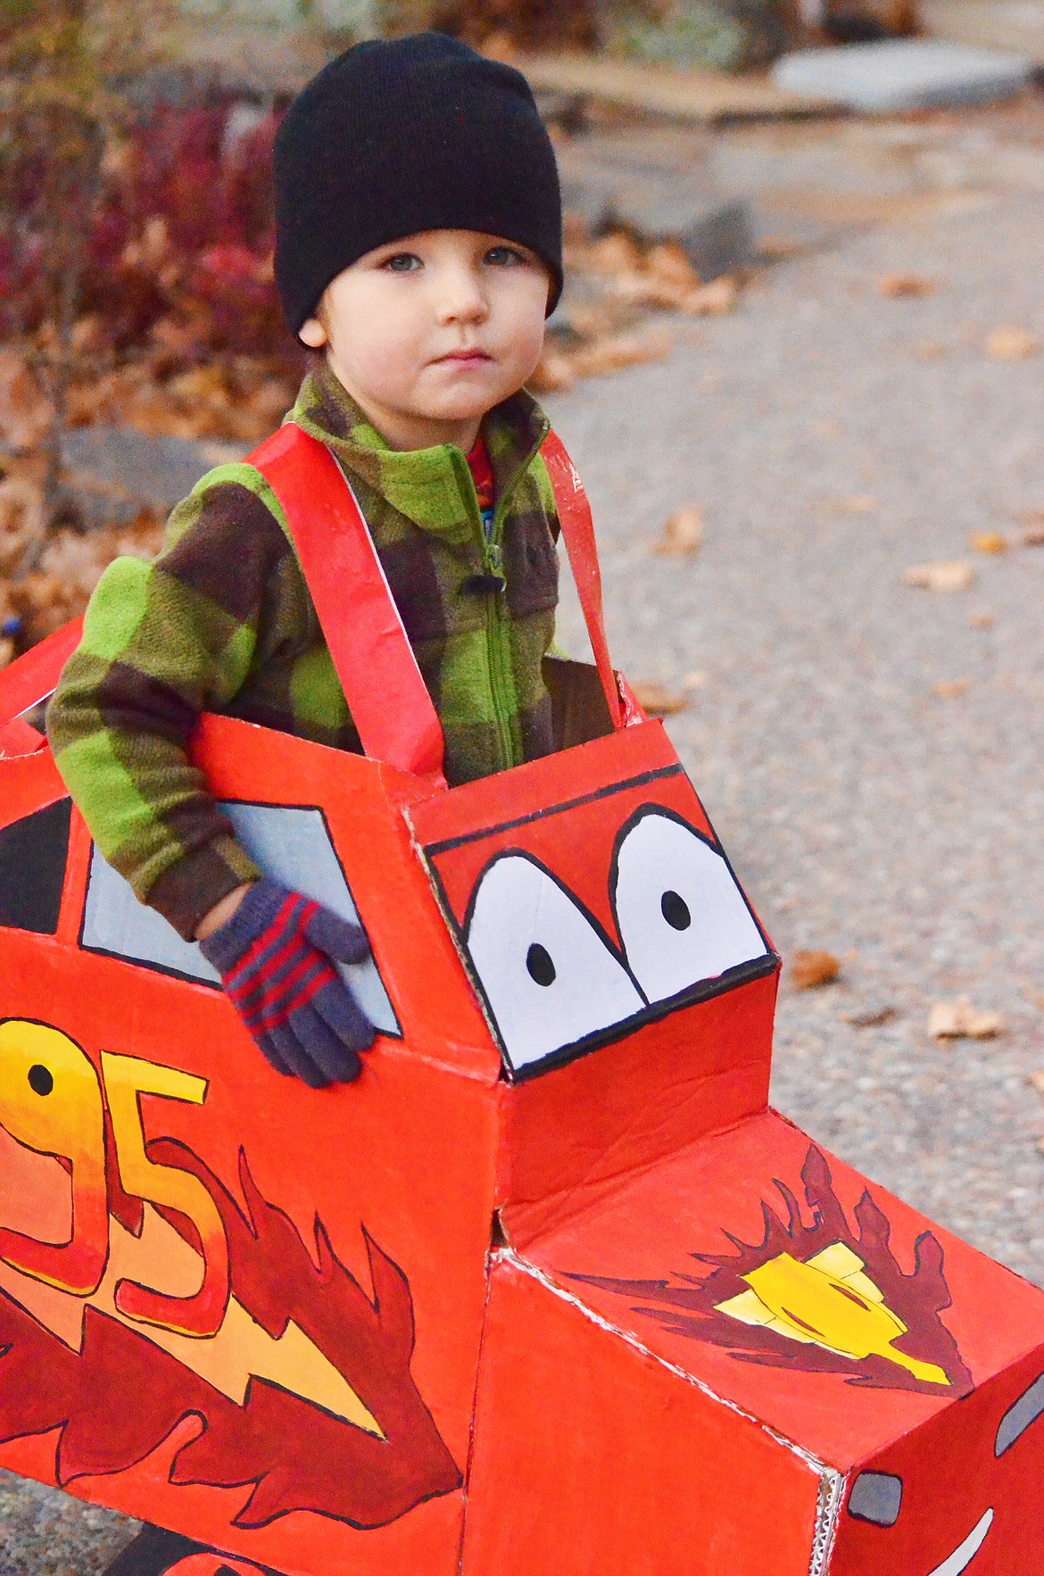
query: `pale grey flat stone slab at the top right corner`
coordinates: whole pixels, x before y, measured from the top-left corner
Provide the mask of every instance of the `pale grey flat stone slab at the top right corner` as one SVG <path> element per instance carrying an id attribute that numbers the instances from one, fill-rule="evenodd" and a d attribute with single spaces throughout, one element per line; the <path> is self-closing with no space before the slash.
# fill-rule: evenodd
<path id="1" fill-rule="evenodd" d="M 1031 80 L 1033 69 L 1028 55 L 898 38 L 800 49 L 778 60 L 772 74 L 789 93 L 820 95 L 868 113 L 894 113 L 1008 98 Z"/>

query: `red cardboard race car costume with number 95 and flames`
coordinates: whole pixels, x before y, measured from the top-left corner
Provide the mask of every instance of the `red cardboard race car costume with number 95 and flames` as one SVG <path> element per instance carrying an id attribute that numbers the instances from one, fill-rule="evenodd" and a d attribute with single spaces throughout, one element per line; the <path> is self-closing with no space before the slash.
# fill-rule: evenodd
<path id="1" fill-rule="evenodd" d="M 367 756 L 205 717 L 194 758 L 365 927 L 378 1042 L 266 1065 L 31 725 L 76 629 L 11 667 L 0 1464 L 224 1551 L 180 1576 L 1044 1573 L 1044 1292 L 768 1108 L 779 963 L 613 675 L 561 444 L 597 667 L 548 667 L 559 753 L 449 790 L 299 438 L 257 463 Z"/>

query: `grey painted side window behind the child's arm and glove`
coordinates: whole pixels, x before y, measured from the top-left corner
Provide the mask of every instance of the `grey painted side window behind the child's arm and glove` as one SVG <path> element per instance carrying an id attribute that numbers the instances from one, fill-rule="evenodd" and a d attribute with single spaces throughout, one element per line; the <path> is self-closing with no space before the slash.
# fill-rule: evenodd
<path id="1" fill-rule="evenodd" d="M 359 924 L 359 914 L 334 851 L 321 810 L 290 805 L 224 802 L 236 837 L 261 870 Z M 219 977 L 195 942 L 183 941 L 153 908 L 139 903 L 129 883 L 94 846 L 87 883 L 80 944 L 88 952 L 142 963 L 165 974 L 217 985 Z M 395 1012 L 373 958 L 337 965 L 359 1005 L 381 1034 L 400 1034 Z"/>

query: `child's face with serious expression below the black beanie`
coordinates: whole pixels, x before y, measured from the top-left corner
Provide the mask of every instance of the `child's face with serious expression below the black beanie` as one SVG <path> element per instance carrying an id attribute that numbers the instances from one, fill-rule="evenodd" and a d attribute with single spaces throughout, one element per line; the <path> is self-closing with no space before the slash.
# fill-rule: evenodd
<path id="1" fill-rule="evenodd" d="M 337 274 L 301 339 L 326 347 L 394 448 L 471 448 L 482 416 L 537 366 L 548 288 L 545 265 L 515 241 L 424 230 Z"/>

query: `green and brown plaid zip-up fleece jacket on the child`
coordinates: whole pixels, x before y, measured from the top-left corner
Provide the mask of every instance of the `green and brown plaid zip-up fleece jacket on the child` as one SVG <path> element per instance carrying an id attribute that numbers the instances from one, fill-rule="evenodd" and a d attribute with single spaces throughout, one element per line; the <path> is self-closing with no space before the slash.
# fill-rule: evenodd
<path id="1" fill-rule="evenodd" d="M 546 755 L 557 522 L 537 403 L 520 392 L 483 419 L 490 541 L 458 448 L 391 449 L 328 369 L 305 377 L 291 416 L 351 478 L 442 722 L 449 782 Z M 189 938 L 258 873 L 186 756 L 202 711 L 359 750 L 283 512 L 246 463 L 209 471 L 178 504 L 154 563 L 109 566 L 47 714 L 102 854 Z"/>

